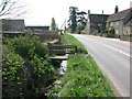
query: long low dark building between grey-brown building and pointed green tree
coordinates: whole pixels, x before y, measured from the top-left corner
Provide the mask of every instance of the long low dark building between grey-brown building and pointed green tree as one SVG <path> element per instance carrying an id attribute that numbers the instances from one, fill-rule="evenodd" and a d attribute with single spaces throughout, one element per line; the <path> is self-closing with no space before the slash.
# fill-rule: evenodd
<path id="1" fill-rule="evenodd" d="M 31 31 L 50 31 L 50 26 L 25 26 L 25 30 L 31 30 Z"/>

